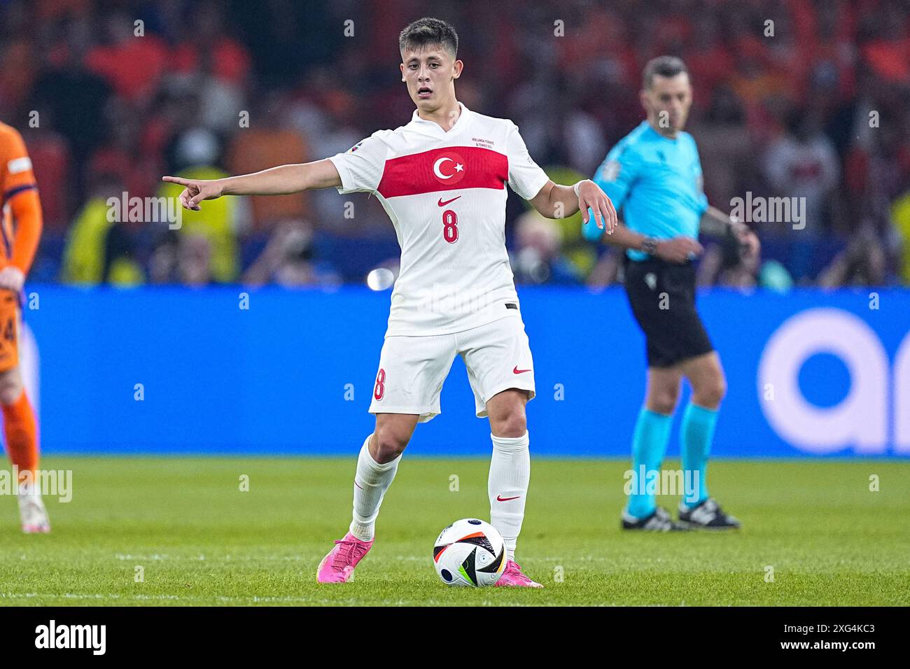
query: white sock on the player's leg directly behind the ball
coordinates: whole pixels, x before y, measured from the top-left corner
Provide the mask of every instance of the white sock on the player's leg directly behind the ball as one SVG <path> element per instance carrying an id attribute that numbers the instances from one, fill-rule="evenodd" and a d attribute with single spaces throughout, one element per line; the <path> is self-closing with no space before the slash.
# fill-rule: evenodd
<path id="1" fill-rule="evenodd" d="M 528 482 L 531 481 L 530 439 L 525 431 L 521 437 L 497 437 L 493 441 L 493 457 L 490 461 L 490 479 L 487 492 L 490 495 L 490 525 L 500 531 L 506 542 L 508 558 L 515 557 L 515 542 L 521 532 L 524 520 L 524 502 L 528 496 Z"/>

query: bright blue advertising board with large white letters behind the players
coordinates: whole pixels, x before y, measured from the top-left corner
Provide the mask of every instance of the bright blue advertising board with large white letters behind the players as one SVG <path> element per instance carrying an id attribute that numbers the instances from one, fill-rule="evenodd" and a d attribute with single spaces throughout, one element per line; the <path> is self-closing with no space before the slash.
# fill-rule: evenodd
<path id="1" fill-rule="evenodd" d="M 389 292 L 245 290 L 29 287 L 43 451 L 355 454 Z M 645 364 L 622 290 L 519 295 L 532 453 L 628 455 Z M 910 456 L 910 292 L 714 289 L 698 304 L 729 386 L 714 457 Z M 441 405 L 409 452 L 489 456 L 460 359 Z"/>

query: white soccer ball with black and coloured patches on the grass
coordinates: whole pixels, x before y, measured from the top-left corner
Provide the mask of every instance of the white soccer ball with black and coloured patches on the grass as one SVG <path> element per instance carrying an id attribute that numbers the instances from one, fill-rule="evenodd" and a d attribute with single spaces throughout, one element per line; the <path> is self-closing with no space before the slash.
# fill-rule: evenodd
<path id="1" fill-rule="evenodd" d="M 442 583 L 482 588 L 500 580 L 505 571 L 506 544 L 489 522 L 465 518 L 440 532 L 433 563 Z"/>

